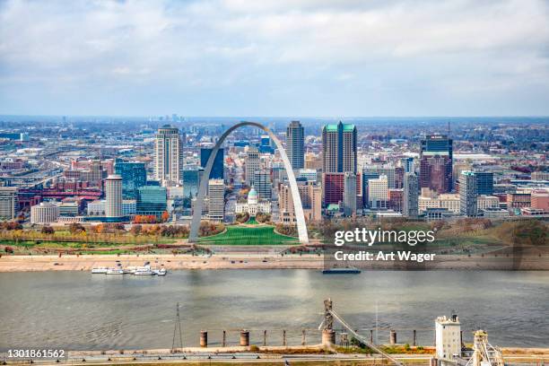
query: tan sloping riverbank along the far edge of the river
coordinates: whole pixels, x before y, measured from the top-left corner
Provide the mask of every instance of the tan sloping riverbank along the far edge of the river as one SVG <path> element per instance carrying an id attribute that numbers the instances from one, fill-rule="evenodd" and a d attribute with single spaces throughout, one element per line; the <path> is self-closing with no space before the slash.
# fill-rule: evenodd
<path id="1" fill-rule="evenodd" d="M 219 248 L 218 248 L 219 249 Z M 36 271 L 91 271 L 93 267 L 143 266 L 151 262 L 153 267 L 164 266 L 168 270 L 179 269 L 323 269 L 324 256 L 318 254 L 281 255 L 277 248 L 248 247 L 224 248 L 209 256 L 182 254 L 128 254 L 128 255 L 62 255 L 51 256 L 2 256 L 2 272 Z M 463 270 L 549 270 L 549 256 L 505 257 L 496 254 L 479 256 L 437 256 L 428 266 L 410 262 L 375 261 L 359 263 L 361 269 L 463 269 Z"/>

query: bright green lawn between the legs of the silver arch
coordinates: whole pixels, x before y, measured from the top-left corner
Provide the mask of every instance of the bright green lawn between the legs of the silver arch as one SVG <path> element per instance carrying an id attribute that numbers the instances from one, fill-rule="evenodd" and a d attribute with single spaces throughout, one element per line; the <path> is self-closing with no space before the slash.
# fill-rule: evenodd
<path id="1" fill-rule="evenodd" d="M 200 238 L 203 244 L 215 245 L 282 245 L 297 243 L 290 238 L 274 232 L 273 226 L 228 226 L 227 231 L 211 237 Z"/>

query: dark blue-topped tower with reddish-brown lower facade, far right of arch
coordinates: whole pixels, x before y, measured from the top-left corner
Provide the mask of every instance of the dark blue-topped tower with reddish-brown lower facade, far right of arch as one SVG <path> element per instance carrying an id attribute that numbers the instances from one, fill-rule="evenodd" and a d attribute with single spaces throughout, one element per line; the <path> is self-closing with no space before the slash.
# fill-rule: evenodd
<path id="1" fill-rule="evenodd" d="M 420 150 L 420 186 L 438 193 L 452 190 L 453 143 L 447 135 L 426 135 Z"/>

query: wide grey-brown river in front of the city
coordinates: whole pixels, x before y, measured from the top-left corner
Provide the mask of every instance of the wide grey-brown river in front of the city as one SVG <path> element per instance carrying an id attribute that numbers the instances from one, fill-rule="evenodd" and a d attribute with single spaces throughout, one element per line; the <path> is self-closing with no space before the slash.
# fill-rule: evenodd
<path id="1" fill-rule="evenodd" d="M 353 327 L 388 342 L 433 344 L 434 318 L 456 311 L 466 341 L 482 327 L 492 344 L 549 346 L 549 272 L 371 271 L 323 275 L 312 270 L 172 271 L 165 277 L 43 272 L 0 274 L 0 352 L 170 348 L 176 303 L 184 345 L 318 343 L 323 300 Z M 178 342 L 179 343 L 179 342 Z"/>

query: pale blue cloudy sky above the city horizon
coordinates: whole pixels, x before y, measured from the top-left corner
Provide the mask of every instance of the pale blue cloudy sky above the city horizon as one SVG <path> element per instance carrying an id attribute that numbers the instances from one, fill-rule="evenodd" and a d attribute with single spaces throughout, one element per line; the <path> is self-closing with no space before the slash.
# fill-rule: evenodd
<path id="1" fill-rule="evenodd" d="M 0 114 L 547 116 L 548 0 L 0 1 Z"/>

